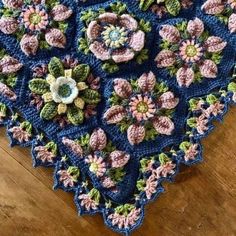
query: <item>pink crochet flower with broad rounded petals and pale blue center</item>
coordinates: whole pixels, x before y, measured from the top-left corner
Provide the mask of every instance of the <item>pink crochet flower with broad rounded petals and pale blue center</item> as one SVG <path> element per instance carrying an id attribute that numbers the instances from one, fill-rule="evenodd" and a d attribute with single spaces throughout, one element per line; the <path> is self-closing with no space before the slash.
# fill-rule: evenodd
<path id="1" fill-rule="evenodd" d="M 100 14 L 90 22 L 86 34 L 90 51 L 102 61 L 130 61 L 145 44 L 144 32 L 138 29 L 138 22 L 128 14 Z"/>

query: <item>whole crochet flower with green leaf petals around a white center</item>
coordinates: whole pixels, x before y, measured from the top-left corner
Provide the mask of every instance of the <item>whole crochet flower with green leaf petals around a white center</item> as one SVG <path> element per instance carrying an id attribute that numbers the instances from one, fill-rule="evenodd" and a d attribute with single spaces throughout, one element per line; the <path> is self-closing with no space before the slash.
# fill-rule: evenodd
<path id="1" fill-rule="evenodd" d="M 68 123 L 79 125 L 84 122 L 87 106 L 95 108 L 100 102 L 99 79 L 91 77 L 88 65 L 73 63 L 72 68 L 67 68 L 60 59 L 52 58 L 43 78 L 32 79 L 29 88 L 44 101 L 42 119 L 66 117 Z"/>

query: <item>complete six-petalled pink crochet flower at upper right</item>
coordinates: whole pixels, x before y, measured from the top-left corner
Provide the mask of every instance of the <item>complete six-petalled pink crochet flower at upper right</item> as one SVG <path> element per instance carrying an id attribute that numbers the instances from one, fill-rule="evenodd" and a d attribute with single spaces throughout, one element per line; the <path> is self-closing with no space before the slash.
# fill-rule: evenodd
<path id="1" fill-rule="evenodd" d="M 220 37 L 209 36 L 200 19 L 176 26 L 162 25 L 159 34 L 162 50 L 155 59 L 157 67 L 168 69 L 171 76 L 176 76 L 180 87 L 217 77 L 217 64 L 227 43 Z"/>

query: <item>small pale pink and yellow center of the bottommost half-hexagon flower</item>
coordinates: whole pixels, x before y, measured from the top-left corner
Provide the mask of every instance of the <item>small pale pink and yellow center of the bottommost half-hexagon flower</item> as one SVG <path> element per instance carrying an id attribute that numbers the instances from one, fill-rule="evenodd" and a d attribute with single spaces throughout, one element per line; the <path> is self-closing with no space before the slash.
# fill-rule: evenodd
<path id="1" fill-rule="evenodd" d="M 97 155 L 89 155 L 85 162 L 89 164 L 89 170 L 97 177 L 102 177 L 105 174 L 106 163 L 102 157 L 98 157 Z"/>

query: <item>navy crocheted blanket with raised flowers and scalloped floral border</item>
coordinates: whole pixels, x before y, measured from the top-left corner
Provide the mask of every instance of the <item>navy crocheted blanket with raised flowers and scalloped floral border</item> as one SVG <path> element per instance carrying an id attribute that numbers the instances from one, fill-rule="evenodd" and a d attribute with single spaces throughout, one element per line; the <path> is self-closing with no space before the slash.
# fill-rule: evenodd
<path id="1" fill-rule="evenodd" d="M 235 0 L 1 0 L 0 124 L 128 235 L 236 103 L 235 33 Z"/>

